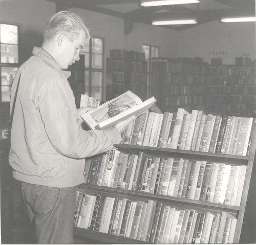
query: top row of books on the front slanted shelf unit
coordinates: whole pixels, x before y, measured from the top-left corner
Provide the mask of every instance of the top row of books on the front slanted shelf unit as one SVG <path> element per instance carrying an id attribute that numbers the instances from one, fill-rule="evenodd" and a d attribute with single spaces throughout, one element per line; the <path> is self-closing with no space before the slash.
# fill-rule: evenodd
<path id="1" fill-rule="evenodd" d="M 246 155 L 255 119 L 188 113 L 145 112 L 126 128 L 123 144 Z"/>

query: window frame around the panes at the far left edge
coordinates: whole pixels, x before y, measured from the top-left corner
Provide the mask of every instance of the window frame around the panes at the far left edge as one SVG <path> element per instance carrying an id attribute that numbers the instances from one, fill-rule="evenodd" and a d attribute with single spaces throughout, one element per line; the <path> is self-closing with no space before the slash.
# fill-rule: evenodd
<path id="1" fill-rule="evenodd" d="M 2 57 L 2 50 L 0 49 L 0 87 L 1 87 L 1 93 L 0 93 L 0 103 L 1 104 L 8 104 L 10 103 L 10 101 L 2 101 L 2 68 L 3 67 L 9 67 L 9 68 L 19 68 L 20 66 L 20 61 L 22 60 L 21 58 L 21 53 L 20 53 L 20 29 L 21 29 L 21 24 L 19 23 L 11 23 L 11 22 L 7 22 L 7 21 L 2 21 L 0 20 L 0 24 L 4 24 L 4 25 L 12 25 L 12 26 L 16 26 L 17 27 L 17 48 L 18 48 L 18 62 L 17 63 L 2 63 L 1 62 L 1 57 Z M 1 32 L 1 30 L 0 30 Z M 0 46 L 1 46 L 2 42 L 1 42 L 1 37 L 0 37 Z M 10 86 L 11 85 L 4 85 L 4 86 Z"/>

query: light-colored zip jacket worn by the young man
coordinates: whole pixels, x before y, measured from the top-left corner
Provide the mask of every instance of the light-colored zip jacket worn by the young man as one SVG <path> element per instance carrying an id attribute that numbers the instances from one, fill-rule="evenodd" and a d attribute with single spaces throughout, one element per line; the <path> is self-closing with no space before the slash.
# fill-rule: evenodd
<path id="1" fill-rule="evenodd" d="M 79 185 L 84 182 L 84 158 L 120 143 L 120 133 L 115 127 L 83 130 L 67 80 L 70 72 L 62 71 L 41 48 L 35 47 L 32 54 L 20 66 L 11 90 L 13 176 L 51 187 Z"/>

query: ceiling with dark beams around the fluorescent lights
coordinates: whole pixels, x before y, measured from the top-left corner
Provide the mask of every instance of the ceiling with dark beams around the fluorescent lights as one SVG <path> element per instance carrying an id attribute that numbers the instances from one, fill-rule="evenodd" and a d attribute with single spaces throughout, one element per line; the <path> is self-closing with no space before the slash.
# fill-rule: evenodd
<path id="1" fill-rule="evenodd" d="M 56 3 L 56 11 L 81 8 L 124 19 L 124 33 L 133 29 L 133 23 L 152 24 L 152 20 L 166 18 L 196 18 L 198 24 L 163 26 L 184 30 L 221 17 L 255 16 L 255 0 L 200 0 L 199 4 L 141 7 L 140 0 L 48 0 Z"/>

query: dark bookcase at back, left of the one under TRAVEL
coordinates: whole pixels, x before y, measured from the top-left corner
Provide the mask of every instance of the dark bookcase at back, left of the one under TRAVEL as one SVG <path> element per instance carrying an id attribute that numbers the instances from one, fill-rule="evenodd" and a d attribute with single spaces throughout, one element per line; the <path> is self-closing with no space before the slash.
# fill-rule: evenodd
<path id="1" fill-rule="evenodd" d="M 164 112 L 204 110 L 207 63 L 200 58 L 153 58 L 152 91 Z"/>

